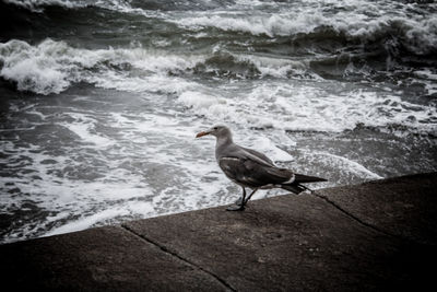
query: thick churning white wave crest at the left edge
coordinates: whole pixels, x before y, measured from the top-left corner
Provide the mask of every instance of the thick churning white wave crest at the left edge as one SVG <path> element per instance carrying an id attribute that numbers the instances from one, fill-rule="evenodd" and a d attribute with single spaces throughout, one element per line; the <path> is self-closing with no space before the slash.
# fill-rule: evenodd
<path id="1" fill-rule="evenodd" d="M 193 68 L 197 63 L 189 56 L 182 58 L 138 47 L 88 50 L 52 39 L 36 46 L 16 39 L 0 44 L 0 77 L 15 83 L 20 91 L 45 95 L 60 93 L 75 82 L 125 90 L 132 87 L 126 85 L 132 80 L 141 85 L 147 78 Z"/>

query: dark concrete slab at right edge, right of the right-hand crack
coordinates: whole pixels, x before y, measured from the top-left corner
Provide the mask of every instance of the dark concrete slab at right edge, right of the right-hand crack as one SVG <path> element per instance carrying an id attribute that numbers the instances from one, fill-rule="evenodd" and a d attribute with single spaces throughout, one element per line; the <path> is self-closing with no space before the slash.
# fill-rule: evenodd
<path id="1" fill-rule="evenodd" d="M 421 174 L 318 191 L 382 232 L 437 243 L 437 175 Z"/>

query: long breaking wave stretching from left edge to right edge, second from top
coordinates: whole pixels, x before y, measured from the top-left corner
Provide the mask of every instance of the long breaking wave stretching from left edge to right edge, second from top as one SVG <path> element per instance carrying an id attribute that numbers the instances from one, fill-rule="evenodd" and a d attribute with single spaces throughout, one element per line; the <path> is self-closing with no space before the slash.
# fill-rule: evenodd
<path id="1" fill-rule="evenodd" d="M 190 77 L 225 79 L 297 79 L 322 80 L 343 78 L 378 82 L 418 82 L 434 94 L 435 70 L 397 67 L 392 73 L 376 71 L 355 63 L 353 58 L 277 58 L 269 55 L 246 55 L 224 50 L 202 54 L 168 54 L 143 48 L 74 48 L 66 42 L 45 39 L 37 45 L 12 39 L 0 43 L 0 77 L 16 84 L 19 91 L 38 94 L 60 93 L 74 83 L 86 82 L 99 87 L 128 91 L 168 91 L 167 81 L 179 86 L 190 84 Z M 188 77 L 188 79 L 187 79 Z M 180 78 L 184 78 L 181 80 Z M 178 91 L 176 91 L 178 92 Z"/>

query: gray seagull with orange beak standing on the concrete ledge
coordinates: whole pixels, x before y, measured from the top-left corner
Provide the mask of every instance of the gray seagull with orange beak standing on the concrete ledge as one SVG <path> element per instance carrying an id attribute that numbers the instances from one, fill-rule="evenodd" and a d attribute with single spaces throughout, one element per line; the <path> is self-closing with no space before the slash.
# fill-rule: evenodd
<path id="1" fill-rule="evenodd" d="M 243 188 L 243 196 L 228 211 L 243 211 L 258 189 L 283 188 L 294 194 L 306 189 L 302 184 L 327 182 L 324 178 L 296 174 L 287 168 L 280 168 L 264 154 L 234 143 L 232 132 L 226 126 L 214 126 L 199 132 L 196 138 L 212 135 L 216 138 L 215 159 L 223 173 Z M 246 188 L 252 189 L 246 196 Z"/>

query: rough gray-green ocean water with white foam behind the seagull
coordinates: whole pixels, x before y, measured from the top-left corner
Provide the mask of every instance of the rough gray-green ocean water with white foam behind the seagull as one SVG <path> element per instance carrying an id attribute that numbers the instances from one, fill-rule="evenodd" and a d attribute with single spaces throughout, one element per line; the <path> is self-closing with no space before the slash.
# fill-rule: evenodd
<path id="1" fill-rule="evenodd" d="M 214 124 L 315 188 L 437 170 L 434 1 L 0 11 L 0 243 L 233 202 Z"/>

